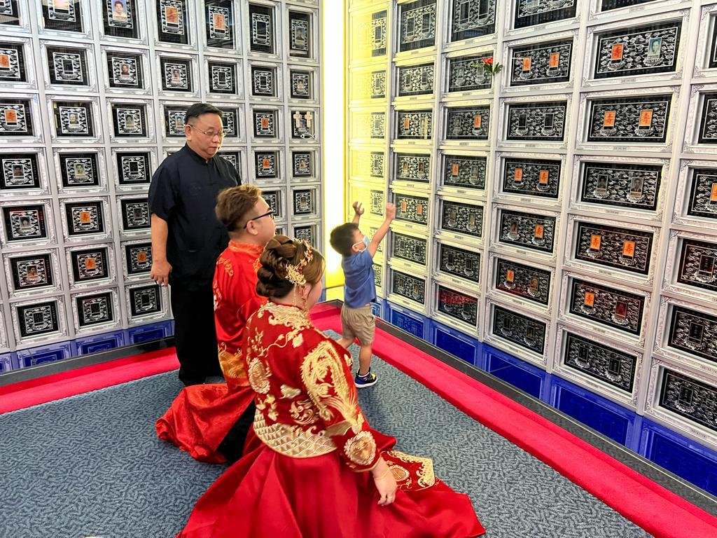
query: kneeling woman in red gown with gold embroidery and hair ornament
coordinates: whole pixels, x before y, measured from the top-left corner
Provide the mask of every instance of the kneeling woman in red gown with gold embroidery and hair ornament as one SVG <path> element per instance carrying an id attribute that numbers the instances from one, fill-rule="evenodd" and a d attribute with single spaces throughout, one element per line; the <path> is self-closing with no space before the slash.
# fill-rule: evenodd
<path id="1" fill-rule="evenodd" d="M 315 329 L 323 258 L 277 235 L 260 258 L 269 298 L 242 351 L 255 392 L 244 456 L 199 499 L 181 538 L 476 537 L 470 499 L 429 458 L 394 450 L 357 403 L 351 355 Z"/>

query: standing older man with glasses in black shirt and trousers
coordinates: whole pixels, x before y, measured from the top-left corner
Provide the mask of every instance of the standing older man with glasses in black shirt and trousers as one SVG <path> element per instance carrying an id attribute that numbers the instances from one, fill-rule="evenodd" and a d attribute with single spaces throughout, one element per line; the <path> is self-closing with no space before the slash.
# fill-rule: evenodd
<path id="1" fill-rule="evenodd" d="M 150 274 L 159 285 L 171 285 L 179 379 L 189 385 L 222 374 L 212 278 L 229 237 L 214 206 L 219 191 L 241 184 L 241 179 L 229 161 L 217 156 L 224 138 L 221 110 L 196 103 L 184 123 L 186 145 L 164 159 L 149 187 Z"/>

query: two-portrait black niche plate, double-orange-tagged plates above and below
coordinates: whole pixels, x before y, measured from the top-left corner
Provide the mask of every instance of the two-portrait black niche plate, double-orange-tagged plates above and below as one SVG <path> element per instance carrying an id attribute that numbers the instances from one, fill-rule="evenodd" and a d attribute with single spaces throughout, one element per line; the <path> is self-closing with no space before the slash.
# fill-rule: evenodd
<path id="1" fill-rule="evenodd" d="M 580 201 L 630 209 L 657 209 L 663 166 L 584 162 Z"/>

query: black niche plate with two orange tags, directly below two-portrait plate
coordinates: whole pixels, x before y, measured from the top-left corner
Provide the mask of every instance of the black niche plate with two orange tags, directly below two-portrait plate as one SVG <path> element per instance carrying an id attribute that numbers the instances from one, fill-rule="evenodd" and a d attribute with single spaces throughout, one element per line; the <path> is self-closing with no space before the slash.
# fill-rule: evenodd
<path id="1" fill-rule="evenodd" d="M 596 239 L 596 236 L 599 238 Z M 577 260 L 647 275 L 651 255 L 652 232 L 578 223 L 575 240 Z"/>

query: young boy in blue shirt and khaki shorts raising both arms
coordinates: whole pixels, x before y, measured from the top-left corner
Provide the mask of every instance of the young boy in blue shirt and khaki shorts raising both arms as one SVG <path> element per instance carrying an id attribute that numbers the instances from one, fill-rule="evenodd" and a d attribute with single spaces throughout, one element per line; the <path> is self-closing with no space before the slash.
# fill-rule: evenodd
<path id="1" fill-rule="evenodd" d="M 371 344 L 374 342 L 376 321 L 371 311 L 371 301 L 376 298 L 374 283 L 374 255 L 381 240 L 389 231 L 391 221 L 396 217 L 396 206 L 386 204 L 386 220 L 376 230 L 374 237 L 366 237 L 359 230 L 359 220 L 364 214 L 361 202 L 353 202 L 353 220 L 331 230 L 331 247 L 343 256 L 341 268 L 346 281 L 341 307 L 342 334 L 338 343 L 348 348 L 354 339 L 359 340 L 359 369 L 353 379 L 356 387 L 371 387 L 376 384 L 376 374 L 371 372 Z"/>

